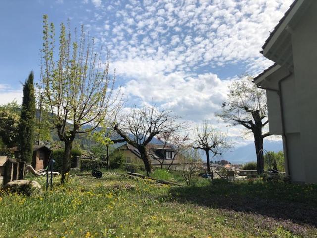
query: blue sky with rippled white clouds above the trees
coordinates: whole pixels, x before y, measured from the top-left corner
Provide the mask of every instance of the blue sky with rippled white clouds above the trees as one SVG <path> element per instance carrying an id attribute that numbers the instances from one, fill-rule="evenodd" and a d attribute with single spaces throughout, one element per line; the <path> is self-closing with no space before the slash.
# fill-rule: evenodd
<path id="1" fill-rule="evenodd" d="M 192 123 L 210 120 L 228 85 L 272 65 L 259 51 L 292 0 L 1 0 L 0 104 L 39 80 L 42 16 L 84 25 L 110 50 L 127 106 L 153 102 Z M 230 128 L 238 135 L 241 128 Z M 239 142 L 239 140 L 237 140 Z"/>

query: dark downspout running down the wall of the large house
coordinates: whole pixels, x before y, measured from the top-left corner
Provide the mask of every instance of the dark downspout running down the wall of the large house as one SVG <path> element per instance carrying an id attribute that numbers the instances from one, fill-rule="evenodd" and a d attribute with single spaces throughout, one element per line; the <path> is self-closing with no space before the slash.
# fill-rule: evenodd
<path id="1" fill-rule="evenodd" d="M 291 176 L 290 174 L 290 167 L 289 167 L 289 159 L 288 159 L 288 143 L 287 143 L 287 137 L 285 133 L 285 117 L 284 117 L 284 108 L 283 108 L 283 97 L 282 97 L 282 82 L 286 79 L 288 79 L 292 75 L 292 72 L 290 72 L 287 76 L 283 77 L 281 80 L 278 81 L 278 89 L 273 89 L 273 88 L 265 88 L 257 85 L 257 88 L 260 89 L 265 89 L 268 91 L 275 91 L 277 92 L 277 95 L 279 97 L 279 104 L 281 108 L 281 122 L 282 122 L 282 136 L 284 137 L 284 142 L 285 142 L 285 160 L 286 160 L 286 166 L 287 166 L 287 174 L 288 176 Z"/>

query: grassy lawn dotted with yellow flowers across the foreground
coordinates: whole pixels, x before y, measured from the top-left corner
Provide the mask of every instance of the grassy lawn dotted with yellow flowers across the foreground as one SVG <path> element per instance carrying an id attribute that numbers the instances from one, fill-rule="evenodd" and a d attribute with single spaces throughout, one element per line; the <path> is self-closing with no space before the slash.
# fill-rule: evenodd
<path id="1" fill-rule="evenodd" d="M 173 187 L 115 173 L 58 181 L 31 197 L 0 195 L 0 237 L 317 237 L 316 185 Z"/>

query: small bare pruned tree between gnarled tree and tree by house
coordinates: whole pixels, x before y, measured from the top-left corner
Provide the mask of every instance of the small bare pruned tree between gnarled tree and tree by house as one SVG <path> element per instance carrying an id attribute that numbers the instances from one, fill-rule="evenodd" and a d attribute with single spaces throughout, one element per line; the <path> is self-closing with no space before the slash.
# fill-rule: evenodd
<path id="1" fill-rule="evenodd" d="M 229 148 L 227 135 L 219 128 L 212 127 L 207 121 L 203 121 L 195 130 L 195 140 L 193 147 L 205 151 L 207 158 L 207 172 L 210 173 L 209 152 L 213 156 L 221 155 L 224 150 Z"/>

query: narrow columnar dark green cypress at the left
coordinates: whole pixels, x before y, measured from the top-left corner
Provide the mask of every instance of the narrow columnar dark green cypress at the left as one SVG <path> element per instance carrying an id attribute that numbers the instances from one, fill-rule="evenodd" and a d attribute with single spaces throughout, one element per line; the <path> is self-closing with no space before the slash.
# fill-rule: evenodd
<path id="1" fill-rule="evenodd" d="M 33 72 L 23 85 L 23 101 L 19 125 L 19 145 L 21 160 L 27 163 L 32 161 L 35 125 L 35 95 Z"/>

